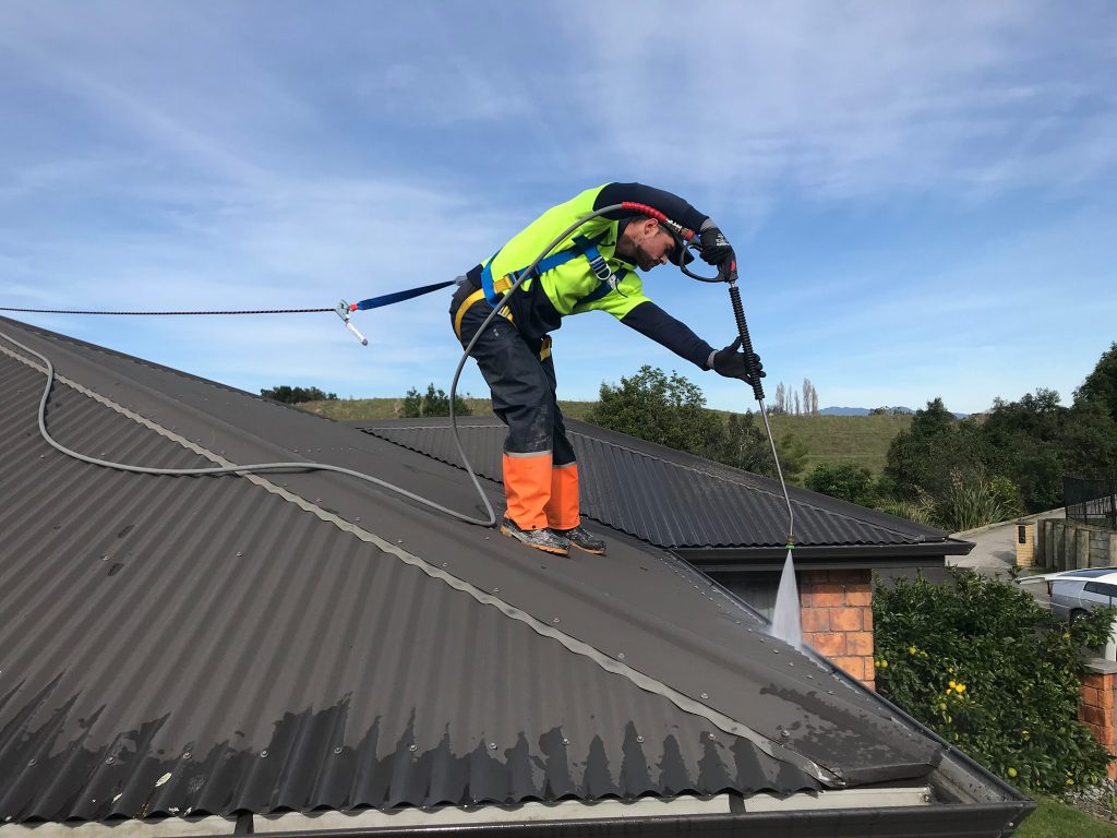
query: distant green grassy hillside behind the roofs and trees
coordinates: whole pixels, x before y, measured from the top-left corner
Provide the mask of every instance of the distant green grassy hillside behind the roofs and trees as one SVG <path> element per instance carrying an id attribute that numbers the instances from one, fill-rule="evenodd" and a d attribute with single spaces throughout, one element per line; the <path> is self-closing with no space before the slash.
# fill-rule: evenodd
<path id="1" fill-rule="evenodd" d="M 466 401 L 474 413 L 489 413 L 488 399 Z M 593 404 L 592 401 L 558 402 L 563 413 L 572 419 L 585 419 Z M 394 419 L 400 416 L 403 399 L 308 401 L 297 407 L 331 419 Z M 819 463 L 855 463 L 880 474 L 888 444 L 910 423 L 910 416 L 773 416 L 772 431 L 776 439 L 792 434 L 806 446 L 810 454 L 804 476 Z"/>

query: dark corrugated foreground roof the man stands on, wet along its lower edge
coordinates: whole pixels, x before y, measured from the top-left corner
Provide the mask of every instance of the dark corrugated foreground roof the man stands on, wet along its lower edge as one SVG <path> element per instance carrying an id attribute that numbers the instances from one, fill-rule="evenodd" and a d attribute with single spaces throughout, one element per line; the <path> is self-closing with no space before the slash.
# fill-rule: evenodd
<path id="1" fill-rule="evenodd" d="M 460 472 L 353 428 L 0 332 L 232 461 L 479 506 Z M 791 792 L 818 787 L 803 758 L 858 785 L 941 753 L 663 551 L 599 528 L 608 559 L 528 554 L 325 473 L 86 465 L 41 440 L 45 377 L 12 355 L 0 339 L 0 819 Z M 210 464 L 61 383 L 48 410 L 78 450 Z"/>

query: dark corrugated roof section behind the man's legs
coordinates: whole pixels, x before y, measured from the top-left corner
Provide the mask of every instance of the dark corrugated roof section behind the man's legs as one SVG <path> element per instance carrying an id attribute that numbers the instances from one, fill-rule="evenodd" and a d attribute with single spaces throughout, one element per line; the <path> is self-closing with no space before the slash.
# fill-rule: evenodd
<path id="1" fill-rule="evenodd" d="M 353 422 L 441 463 L 460 457 L 445 419 Z M 787 506 L 777 483 L 603 428 L 567 420 L 579 457 L 582 512 L 662 547 L 755 547 L 786 543 Z M 459 422 L 478 474 L 500 480 L 505 429 L 495 418 Z M 947 533 L 790 486 L 795 542 L 812 545 L 906 545 L 946 541 Z"/>

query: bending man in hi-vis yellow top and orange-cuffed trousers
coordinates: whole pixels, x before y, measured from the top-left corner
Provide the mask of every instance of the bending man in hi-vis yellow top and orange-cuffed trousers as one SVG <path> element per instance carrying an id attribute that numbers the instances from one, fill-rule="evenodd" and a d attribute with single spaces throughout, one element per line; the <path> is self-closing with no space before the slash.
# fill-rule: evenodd
<path id="1" fill-rule="evenodd" d="M 640 183 L 589 189 L 544 212 L 466 274 L 450 304 L 450 320 L 462 346 L 519 272 L 556 236 L 590 212 L 622 202 L 655 208 L 699 231 L 701 258 L 710 265 L 720 267 L 736 258 L 717 225 L 678 196 Z M 637 268 L 651 270 L 691 258 L 655 218 L 629 210 L 599 216 L 540 263 L 505 301 L 503 316 L 494 318 L 474 344 L 470 355 L 493 392 L 493 411 L 508 426 L 504 444 L 507 511 L 502 533 L 547 553 L 565 555 L 571 546 L 605 552 L 605 543 L 581 523 L 577 463 L 555 398 L 550 333 L 562 326 L 563 317 L 605 312 L 699 369 L 750 381 L 739 340 L 714 350 L 645 296 Z M 760 359 L 755 361 L 760 370 Z"/>

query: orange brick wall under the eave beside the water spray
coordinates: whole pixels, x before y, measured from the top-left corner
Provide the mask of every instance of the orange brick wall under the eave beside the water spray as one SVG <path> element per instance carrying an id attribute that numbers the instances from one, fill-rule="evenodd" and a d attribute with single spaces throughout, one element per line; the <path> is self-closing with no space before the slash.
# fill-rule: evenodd
<path id="1" fill-rule="evenodd" d="M 872 572 L 805 570 L 798 579 L 804 642 L 875 689 Z"/>

